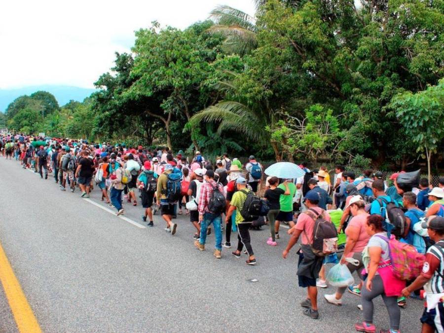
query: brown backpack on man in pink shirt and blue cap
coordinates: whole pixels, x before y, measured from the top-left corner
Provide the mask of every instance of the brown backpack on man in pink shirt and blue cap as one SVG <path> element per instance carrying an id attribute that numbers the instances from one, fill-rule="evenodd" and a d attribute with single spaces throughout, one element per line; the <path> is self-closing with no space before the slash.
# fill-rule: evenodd
<path id="1" fill-rule="evenodd" d="M 313 253 L 318 257 L 325 257 L 337 252 L 337 230 L 332 222 L 324 219 L 324 210 L 322 210 L 321 214 L 318 214 L 316 210 L 310 208 L 305 214 L 315 222 L 313 226 L 313 243 L 311 244 Z M 303 232 L 305 233 L 305 230 Z M 307 237 L 306 233 L 305 237 Z"/>

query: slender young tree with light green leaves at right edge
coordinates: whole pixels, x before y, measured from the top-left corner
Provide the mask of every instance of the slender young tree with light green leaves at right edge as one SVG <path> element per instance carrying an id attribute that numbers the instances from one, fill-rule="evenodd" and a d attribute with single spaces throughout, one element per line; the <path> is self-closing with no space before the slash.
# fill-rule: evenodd
<path id="1" fill-rule="evenodd" d="M 444 79 L 436 86 L 415 94 L 406 92 L 397 95 L 389 105 L 399 122 L 417 144 L 417 152 L 425 152 L 427 171 L 431 182 L 430 161 L 432 153 L 444 144 Z"/>

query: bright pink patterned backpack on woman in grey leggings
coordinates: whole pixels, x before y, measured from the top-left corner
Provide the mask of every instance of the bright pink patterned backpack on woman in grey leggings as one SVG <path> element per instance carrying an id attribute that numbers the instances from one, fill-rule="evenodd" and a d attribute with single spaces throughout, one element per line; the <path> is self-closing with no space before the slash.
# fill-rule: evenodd
<path id="1" fill-rule="evenodd" d="M 412 280 L 419 276 L 425 261 L 425 256 L 418 253 L 414 246 L 396 240 L 394 235 L 390 239 L 376 235 L 389 245 L 389 255 L 392 261 L 393 274 L 400 280 Z"/>

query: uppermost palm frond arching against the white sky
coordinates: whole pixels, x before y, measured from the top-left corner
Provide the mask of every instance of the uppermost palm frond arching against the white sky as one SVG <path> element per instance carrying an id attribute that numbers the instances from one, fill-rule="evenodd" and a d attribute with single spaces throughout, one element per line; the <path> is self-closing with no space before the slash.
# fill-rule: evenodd
<path id="1" fill-rule="evenodd" d="M 230 6 L 218 6 L 210 12 L 210 18 L 221 26 L 239 26 L 257 32 L 256 20 L 242 10 Z"/>

